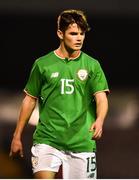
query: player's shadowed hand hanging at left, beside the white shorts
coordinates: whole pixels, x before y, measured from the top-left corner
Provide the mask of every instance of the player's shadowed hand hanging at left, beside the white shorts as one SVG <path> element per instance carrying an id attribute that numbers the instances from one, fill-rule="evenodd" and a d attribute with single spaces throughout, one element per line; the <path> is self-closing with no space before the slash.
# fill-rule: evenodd
<path id="1" fill-rule="evenodd" d="M 9 156 L 10 157 L 20 156 L 21 158 L 23 158 L 23 146 L 20 139 L 17 139 L 15 137 L 13 138 Z"/>

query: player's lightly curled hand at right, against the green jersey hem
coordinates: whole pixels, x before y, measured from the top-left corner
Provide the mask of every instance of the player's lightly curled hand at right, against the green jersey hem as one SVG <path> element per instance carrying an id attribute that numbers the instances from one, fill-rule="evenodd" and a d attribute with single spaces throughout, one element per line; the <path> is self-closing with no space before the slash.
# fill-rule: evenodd
<path id="1" fill-rule="evenodd" d="M 102 133 L 103 133 L 103 130 L 102 130 L 102 127 L 103 124 L 100 122 L 100 121 L 95 121 L 91 128 L 90 128 L 90 131 L 93 132 L 93 139 L 94 140 L 98 140 L 101 138 L 102 136 Z"/>

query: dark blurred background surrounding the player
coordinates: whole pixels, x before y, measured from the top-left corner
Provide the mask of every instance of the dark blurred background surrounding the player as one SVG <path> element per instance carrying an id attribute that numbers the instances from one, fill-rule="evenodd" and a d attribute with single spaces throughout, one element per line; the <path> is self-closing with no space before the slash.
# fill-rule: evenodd
<path id="1" fill-rule="evenodd" d="M 57 15 L 69 8 L 86 12 L 92 30 L 83 51 L 100 61 L 111 90 L 104 135 L 97 142 L 98 178 L 139 178 L 139 1 L 1 0 L 0 108 L 13 94 L 21 97 L 34 60 L 58 47 Z M 8 100 L 2 99 L 6 93 Z M 13 161 L 8 153 L 15 123 L 0 117 L 0 178 L 31 178 L 34 126 L 25 129 L 25 159 Z"/>

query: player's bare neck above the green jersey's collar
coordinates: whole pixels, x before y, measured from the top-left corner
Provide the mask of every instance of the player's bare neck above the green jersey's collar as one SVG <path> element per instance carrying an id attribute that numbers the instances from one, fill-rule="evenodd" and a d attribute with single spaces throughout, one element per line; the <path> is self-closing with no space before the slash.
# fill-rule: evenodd
<path id="1" fill-rule="evenodd" d="M 75 59 L 79 56 L 80 50 L 78 51 L 68 51 L 62 46 L 59 46 L 58 49 L 55 50 L 56 54 L 60 56 L 61 58 L 68 58 L 68 59 Z"/>

